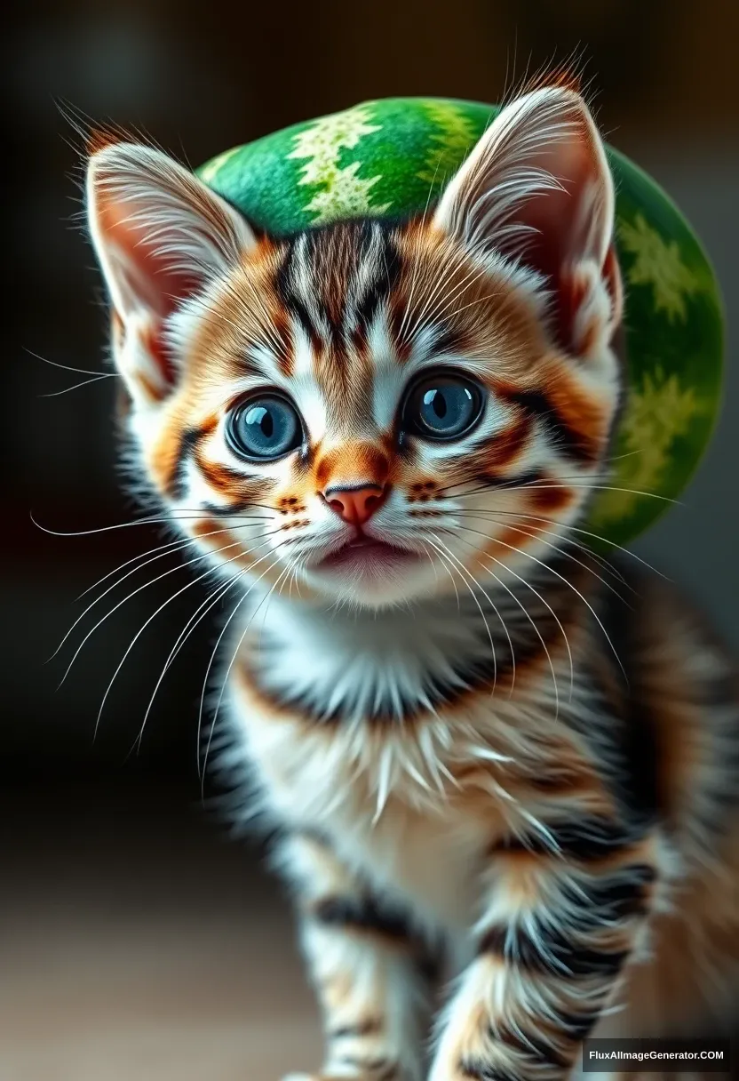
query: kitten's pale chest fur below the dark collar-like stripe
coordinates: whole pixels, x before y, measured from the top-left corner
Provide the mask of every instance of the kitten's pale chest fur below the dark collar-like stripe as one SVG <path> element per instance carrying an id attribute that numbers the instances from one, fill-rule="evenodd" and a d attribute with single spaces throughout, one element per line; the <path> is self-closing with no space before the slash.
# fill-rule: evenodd
<path id="1" fill-rule="evenodd" d="M 469 925 L 476 899 L 470 869 L 486 835 L 449 801 L 442 759 L 438 777 L 428 769 L 425 776 L 422 755 L 414 764 L 402 732 L 386 734 L 382 746 L 365 732 L 362 747 L 359 731 L 276 718 L 239 681 L 233 706 L 268 814 L 328 835 L 348 866 L 382 895 L 411 903 L 430 927 Z"/>

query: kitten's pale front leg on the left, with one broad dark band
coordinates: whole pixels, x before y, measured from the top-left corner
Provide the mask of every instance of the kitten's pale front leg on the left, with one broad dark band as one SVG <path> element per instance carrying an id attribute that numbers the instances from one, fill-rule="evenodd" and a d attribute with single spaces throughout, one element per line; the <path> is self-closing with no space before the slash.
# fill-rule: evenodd
<path id="1" fill-rule="evenodd" d="M 321 1073 L 290 1081 L 419 1081 L 428 988 L 418 939 L 324 838 L 296 832 L 282 857 L 326 1036 Z"/>

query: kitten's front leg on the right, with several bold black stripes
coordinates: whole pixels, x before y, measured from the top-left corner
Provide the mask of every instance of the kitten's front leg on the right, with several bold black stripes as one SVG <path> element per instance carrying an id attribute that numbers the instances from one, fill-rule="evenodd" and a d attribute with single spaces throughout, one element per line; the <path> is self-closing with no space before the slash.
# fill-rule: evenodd
<path id="1" fill-rule="evenodd" d="M 645 930 L 654 844 L 587 817 L 552 832 L 557 856 L 535 842 L 489 853 L 478 956 L 445 1011 L 430 1081 L 566 1078 L 613 997 Z"/>

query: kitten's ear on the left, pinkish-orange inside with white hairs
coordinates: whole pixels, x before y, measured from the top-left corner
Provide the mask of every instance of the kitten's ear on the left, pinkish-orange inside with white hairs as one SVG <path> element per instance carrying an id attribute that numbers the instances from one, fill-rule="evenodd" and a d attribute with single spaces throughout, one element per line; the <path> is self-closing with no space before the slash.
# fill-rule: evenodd
<path id="1" fill-rule="evenodd" d="M 150 146 L 112 143 L 88 164 L 88 223 L 117 330 L 116 361 L 138 405 L 172 390 L 170 316 L 254 243 L 241 215 Z"/>

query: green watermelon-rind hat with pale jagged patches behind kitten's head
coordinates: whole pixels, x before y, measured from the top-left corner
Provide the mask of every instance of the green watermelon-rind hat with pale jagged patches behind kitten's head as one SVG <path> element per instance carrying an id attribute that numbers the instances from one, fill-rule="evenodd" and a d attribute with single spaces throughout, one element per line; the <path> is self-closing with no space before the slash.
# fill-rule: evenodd
<path id="1" fill-rule="evenodd" d="M 498 108 L 394 97 L 294 124 L 198 170 L 273 236 L 361 215 L 422 211 Z M 722 389 L 724 318 L 715 275 L 668 196 L 607 147 L 626 286 L 628 381 L 608 490 L 588 529 L 613 544 L 643 533 L 687 484 L 708 445 Z"/>

